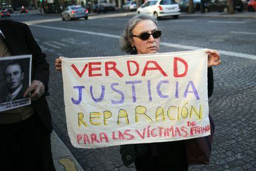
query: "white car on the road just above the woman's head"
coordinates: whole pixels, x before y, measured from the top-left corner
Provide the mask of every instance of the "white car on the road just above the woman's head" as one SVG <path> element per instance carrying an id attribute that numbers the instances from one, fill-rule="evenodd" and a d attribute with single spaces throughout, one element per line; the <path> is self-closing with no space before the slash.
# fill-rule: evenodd
<path id="1" fill-rule="evenodd" d="M 147 13 L 155 17 L 155 19 L 165 16 L 173 16 L 174 19 L 177 19 L 181 14 L 180 10 L 179 4 L 174 0 L 150 0 L 137 9 L 137 14 Z"/>

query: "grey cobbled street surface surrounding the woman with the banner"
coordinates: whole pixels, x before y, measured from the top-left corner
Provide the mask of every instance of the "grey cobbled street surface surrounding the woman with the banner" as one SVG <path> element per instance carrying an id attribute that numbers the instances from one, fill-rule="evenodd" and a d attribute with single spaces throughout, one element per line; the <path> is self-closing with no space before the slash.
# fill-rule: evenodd
<path id="1" fill-rule="evenodd" d="M 28 23 L 51 65 L 48 103 L 54 131 L 83 170 L 135 170 L 122 164 L 119 146 L 102 149 L 74 148 L 69 141 L 64 112 L 62 75 L 54 59 L 127 55 L 119 48 L 119 36 L 131 15 L 89 16 L 88 20 L 61 21 L 59 15 L 14 15 Z M 187 17 L 158 21 L 162 30 L 160 52 L 216 49 L 221 65 L 213 67 L 215 88 L 209 99 L 215 120 L 210 165 L 189 170 L 256 169 L 256 19 L 236 17 Z M 171 154 L 170 154 L 171 155 Z"/>

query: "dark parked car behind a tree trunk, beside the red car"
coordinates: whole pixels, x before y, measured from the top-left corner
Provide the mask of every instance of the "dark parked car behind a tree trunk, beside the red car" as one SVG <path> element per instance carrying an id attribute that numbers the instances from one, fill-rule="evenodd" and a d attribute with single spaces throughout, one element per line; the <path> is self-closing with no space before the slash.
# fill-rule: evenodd
<path id="1" fill-rule="evenodd" d="M 233 0 L 234 10 L 242 12 L 244 9 L 244 2 L 241 0 Z M 205 12 L 218 11 L 228 12 L 228 0 L 208 0 L 205 2 Z"/>

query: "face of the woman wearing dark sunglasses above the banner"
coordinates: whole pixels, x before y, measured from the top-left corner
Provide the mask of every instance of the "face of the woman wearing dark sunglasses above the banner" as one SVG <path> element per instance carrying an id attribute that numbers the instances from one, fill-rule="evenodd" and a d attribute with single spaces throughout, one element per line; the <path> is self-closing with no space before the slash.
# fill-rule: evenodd
<path id="1" fill-rule="evenodd" d="M 156 24 L 151 20 L 142 20 L 132 30 L 133 35 L 140 35 L 142 33 L 152 33 L 157 30 Z M 138 54 L 154 54 L 158 52 L 160 38 L 153 38 L 152 35 L 148 40 L 141 40 L 140 38 L 133 37 L 132 46 L 135 46 Z"/>

